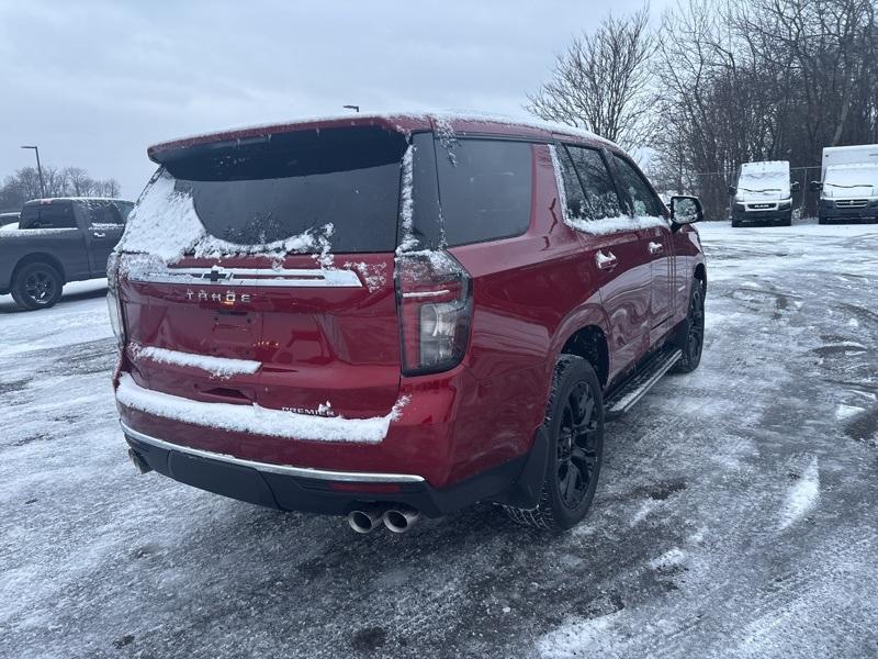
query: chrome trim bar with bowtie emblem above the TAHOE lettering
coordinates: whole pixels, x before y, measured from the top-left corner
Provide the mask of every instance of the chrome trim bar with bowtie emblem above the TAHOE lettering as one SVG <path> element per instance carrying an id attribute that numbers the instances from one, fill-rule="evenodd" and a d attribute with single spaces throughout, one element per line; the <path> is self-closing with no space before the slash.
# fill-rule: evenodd
<path id="1" fill-rule="evenodd" d="M 260 268 L 168 268 L 143 272 L 131 281 L 147 283 L 185 283 L 198 286 L 249 286 L 254 288 L 362 288 L 353 270 L 336 269 L 260 269 Z"/>

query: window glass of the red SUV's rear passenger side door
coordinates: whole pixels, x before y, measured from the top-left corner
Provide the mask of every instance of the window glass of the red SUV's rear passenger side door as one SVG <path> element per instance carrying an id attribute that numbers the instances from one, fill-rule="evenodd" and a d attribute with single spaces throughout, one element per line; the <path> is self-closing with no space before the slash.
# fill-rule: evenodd
<path id="1" fill-rule="evenodd" d="M 616 186 L 607 171 L 604 158 L 594 148 L 566 146 L 559 149 L 564 186 L 567 197 L 567 211 L 574 220 L 601 220 L 604 217 L 618 217 L 623 215 L 619 205 L 619 196 Z M 571 168 L 575 171 L 571 171 Z M 578 177 L 576 177 L 578 175 Z M 570 179 L 570 183 L 567 180 Z M 582 187 L 576 190 L 575 182 L 582 181 Z M 574 194 L 571 194 L 571 186 Z M 573 198 L 573 202 L 571 202 Z"/>

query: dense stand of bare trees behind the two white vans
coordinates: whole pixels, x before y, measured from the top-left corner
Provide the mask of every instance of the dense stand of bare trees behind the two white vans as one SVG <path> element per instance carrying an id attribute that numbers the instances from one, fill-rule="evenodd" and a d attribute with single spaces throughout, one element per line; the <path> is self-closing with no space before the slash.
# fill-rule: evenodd
<path id="1" fill-rule="evenodd" d="M 741 163 L 820 163 L 824 146 L 878 141 L 876 0 L 684 0 L 654 56 L 652 146 L 721 217 Z"/>

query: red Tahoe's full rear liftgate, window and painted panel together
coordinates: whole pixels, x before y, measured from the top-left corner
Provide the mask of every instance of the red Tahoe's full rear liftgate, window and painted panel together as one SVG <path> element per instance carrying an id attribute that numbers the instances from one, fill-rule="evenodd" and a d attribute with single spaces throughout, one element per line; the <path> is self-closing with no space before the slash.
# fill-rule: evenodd
<path id="1" fill-rule="evenodd" d="M 169 158 L 121 243 L 135 379 L 206 402 L 386 415 L 406 148 L 383 129 L 324 129 Z M 244 364 L 217 375 L 201 356 Z"/>

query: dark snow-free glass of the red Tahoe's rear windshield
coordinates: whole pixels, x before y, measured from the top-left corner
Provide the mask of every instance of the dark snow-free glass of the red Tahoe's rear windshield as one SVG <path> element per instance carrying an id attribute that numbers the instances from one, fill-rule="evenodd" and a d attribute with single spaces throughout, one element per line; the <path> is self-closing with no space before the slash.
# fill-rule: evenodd
<path id="1" fill-rule="evenodd" d="M 405 149 L 393 131 L 323 129 L 193 147 L 165 168 L 222 241 L 266 245 L 331 225 L 335 253 L 393 252 Z"/>

